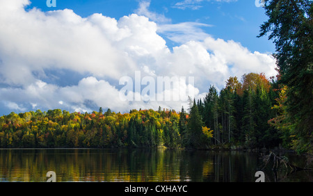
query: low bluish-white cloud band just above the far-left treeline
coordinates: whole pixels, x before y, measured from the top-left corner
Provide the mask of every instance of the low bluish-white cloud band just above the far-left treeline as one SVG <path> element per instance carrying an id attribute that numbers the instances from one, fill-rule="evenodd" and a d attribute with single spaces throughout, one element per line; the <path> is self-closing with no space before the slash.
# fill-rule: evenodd
<path id="1" fill-rule="evenodd" d="M 157 84 L 157 77 L 151 77 L 151 79 Z M 147 86 L 143 85 L 141 79 L 139 81 L 134 80 L 135 82 L 139 82 L 142 85 L 138 92 L 135 88 L 131 88 L 131 91 L 128 93 L 134 95 L 134 99 L 126 101 L 121 99 L 118 88 L 107 81 L 98 80 L 93 76 L 81 79 L 77 85 L 65 87 L 37 81 L 27 88 L 1 88 L 0 95 L 1 99 L 4 100 L 3 104 L 5 104 L 6 108 L 18 112 L 26 111 L 27 105 L 31 105 L 33 110 L 48 110 L 61 107 L 69 111 L 82 112 L 92 112 L 100 106 L 122 112 L 133 108 L 157 109 L 159 106 L 179 109 L 182 107 L 182 104 L 186 103 L 188 96 L 199 96 L 199 90 L 194 87 L 193 83 L 179 80 L 174 88 L 164 87 L 161 88 L 161 91 L 155 88 L 153 92 L 154 97 L 151 99 L 152 97 L 145 93 Z M 135 94 L 138 94 L 139 99 L 135 99 Z"/>

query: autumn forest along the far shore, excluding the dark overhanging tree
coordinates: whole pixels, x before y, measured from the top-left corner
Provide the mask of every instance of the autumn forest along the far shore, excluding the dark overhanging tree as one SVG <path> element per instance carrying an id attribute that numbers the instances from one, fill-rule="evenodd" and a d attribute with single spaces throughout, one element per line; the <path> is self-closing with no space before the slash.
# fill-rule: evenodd
<path id="1" fill-rule="evenodd" d="M 241 81 L 230 77 L 219 93 L 211 85 L 204 99 L 181 111 L 12 112 L 0 117 L 0 147 L 289 149 L 296 138 L 282 122 L 284 90 L 250 73 Z"/>

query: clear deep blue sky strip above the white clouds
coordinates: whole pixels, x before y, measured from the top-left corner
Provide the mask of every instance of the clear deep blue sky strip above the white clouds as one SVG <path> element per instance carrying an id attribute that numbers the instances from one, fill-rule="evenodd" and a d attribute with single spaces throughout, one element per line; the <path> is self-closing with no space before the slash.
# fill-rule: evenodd
<path id="1" fill-rule="evenodd" d="M 266 37 L 257 38 L 259 26 L 266 21 L 264 8 L 257 7 L 254 0 L 228 0 L 228 1 L 168 1 L 152 0 L 149 11 L 162 15 L 170 24 L 181 22 L 198 22 L 207 24 L 202 30 L 214 38 L 234 40 L 241 42 L 250 51 L 273 53 L 275 46 Z M 31 1 L 29 8 L 40 8 L 42 11 L 74 10 L 81 17 L 88 17 L 94 13 L 102 13 L 109 17 L 119 19 L 125 15 L 136 13 L 140 0 L 56 0 L 57 6 L 47 7 L 45 0 Z M 152 19 L 153 20 L 153 19 Z M 155 20 L 154 20 L 155 21 Z M 164 23 L 155 21 L 158 23 Z M 166 38 L 166 37 L 165 37 Z M 175 46 L 170 40 L 168 45 Z"/>

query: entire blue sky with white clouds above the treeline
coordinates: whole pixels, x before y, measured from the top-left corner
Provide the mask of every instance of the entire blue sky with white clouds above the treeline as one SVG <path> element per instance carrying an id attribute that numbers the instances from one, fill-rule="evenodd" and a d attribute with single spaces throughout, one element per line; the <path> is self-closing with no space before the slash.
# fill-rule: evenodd
<path id="1" fill-rule="evenodd" d="M 230 76 L 276 74 L 254 0 L 55 2 L 0 0 L 0 115 L 180 111 Z"/>

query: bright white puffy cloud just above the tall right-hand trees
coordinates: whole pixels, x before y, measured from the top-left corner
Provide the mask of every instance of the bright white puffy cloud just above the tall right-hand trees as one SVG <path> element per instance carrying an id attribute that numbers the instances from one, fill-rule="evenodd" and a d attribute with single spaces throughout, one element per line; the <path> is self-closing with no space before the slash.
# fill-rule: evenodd
<path id="1" fill-rule="evenodd" d="M 275 76 L 275 59 L 268 54 L 251 52 L 239 42 L 214 39 L 189 41 L 173 48 L 164 62 L 163 72 L 177 76 L 194 76 L 200 92 L 206 92 L 209 84 L 221 89 L 230 76 L 239 79 L 250 72 L 264 72 Z"/>

